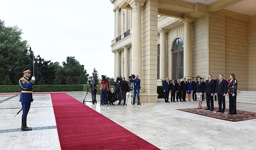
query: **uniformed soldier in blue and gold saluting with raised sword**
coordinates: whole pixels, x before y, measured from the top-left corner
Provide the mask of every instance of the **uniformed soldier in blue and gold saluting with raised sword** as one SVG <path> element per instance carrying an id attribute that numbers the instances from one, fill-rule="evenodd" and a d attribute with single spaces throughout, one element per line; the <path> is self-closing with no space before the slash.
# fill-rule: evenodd
<path id="1" fill-rule="evenodd" d="M 20 85 L 20 102 L 22 106 L 22 118 L 21 118 L 21 130 L 29 131 L 32 128 L 27 127 L 27 115 L 30 108 L 32 98 L 32 86 L 35 84 L 36 78 L 33 76 L 31 80 L 28 78 L 31 76 L 30 67 L 26 67 L 21 73 L 23 77 L 19 80 Z"/>

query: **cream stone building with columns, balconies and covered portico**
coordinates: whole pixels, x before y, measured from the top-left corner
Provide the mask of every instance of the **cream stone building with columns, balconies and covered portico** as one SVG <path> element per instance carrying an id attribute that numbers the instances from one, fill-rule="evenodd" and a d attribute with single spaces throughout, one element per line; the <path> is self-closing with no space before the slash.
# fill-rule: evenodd
<path id="1" fill-rule="evenodd" d="M 256 91 L 255 0 L 111 0 L 114 76 L 139 75 L 141 102 L 156 85 L 234 73 L 238 90 Z M 144 92 L 143 92 L 144 91 Z M 143 93 L 142 93 L 143 92 Z"/>

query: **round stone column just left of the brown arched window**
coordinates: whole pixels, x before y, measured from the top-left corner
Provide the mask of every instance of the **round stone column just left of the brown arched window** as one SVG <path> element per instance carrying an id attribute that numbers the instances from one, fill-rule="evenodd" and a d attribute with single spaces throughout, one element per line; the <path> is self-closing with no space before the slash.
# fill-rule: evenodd
<path id="1" fill-rule="evenodd" d="M 166 32 L 167 30 L 160 29 L 160 63 L 159 63 L 159 78 L 165 80 L 166 78 Z"/>

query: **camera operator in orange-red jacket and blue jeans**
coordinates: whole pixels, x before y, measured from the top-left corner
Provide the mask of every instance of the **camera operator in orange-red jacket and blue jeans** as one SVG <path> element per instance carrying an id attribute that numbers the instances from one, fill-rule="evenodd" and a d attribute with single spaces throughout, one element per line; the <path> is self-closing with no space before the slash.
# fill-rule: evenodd
<path id="1" fill-rule="evenodd" d="M 109 90 L 108 84 L 110 81 L 108 80 L 106 75 L 101 75 L 100 81 L 100 106 L 104 106 L 108 103 L 107 101 L 107 91 Z"/>

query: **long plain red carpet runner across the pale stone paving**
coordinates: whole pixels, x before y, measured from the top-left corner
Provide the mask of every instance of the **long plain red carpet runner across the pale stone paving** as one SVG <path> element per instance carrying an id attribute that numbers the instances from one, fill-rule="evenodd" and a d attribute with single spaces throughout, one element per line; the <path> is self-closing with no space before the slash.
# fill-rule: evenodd
<path id="1" fill-rule="evenodd" d="M 66 93 L 51 97 L 62 150 L 158 149 Z"/>

